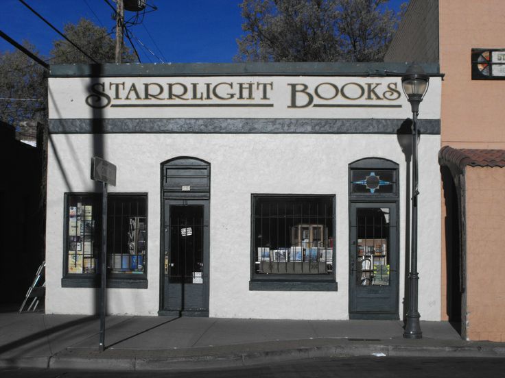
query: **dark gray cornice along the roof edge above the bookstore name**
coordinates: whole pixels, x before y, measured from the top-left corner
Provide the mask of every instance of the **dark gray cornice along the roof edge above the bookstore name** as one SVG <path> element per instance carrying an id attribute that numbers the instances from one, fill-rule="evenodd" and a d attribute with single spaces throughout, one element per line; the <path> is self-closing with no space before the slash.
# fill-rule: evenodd
<path id="1" fill-rule="evenodd" d="M 51 65 L 49 77 L 162 76 L 395 76 L 409 63 L 390 62 L 247 62 L 178 64 L 61 64 Z M 421 64 L 430 76 L 443 76 L 438 63 Z"/>

